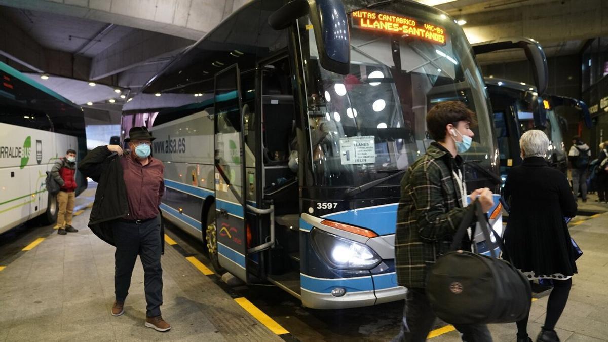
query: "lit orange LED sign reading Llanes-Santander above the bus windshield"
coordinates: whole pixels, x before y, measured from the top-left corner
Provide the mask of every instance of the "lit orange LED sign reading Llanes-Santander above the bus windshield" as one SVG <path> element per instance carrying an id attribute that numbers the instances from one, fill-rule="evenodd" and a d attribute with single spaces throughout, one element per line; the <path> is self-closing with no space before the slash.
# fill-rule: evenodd
<path id="1" fill-rule="evenodd" d="M 375 30 L 387 33 L 401 33 L 428 40 L 432 43 L 446 44 L 446 33 L 443 27 L 421 23 L 416 19 L 392 13 L 371 12 L 358 10 L 351 13 L 353 27 L 359 29 Z"/>

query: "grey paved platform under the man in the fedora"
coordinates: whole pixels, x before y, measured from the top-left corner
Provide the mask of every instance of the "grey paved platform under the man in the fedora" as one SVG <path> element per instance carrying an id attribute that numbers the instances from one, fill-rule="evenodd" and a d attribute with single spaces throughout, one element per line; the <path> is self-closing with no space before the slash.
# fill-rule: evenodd
<path id="1" fill-rule="evenodd" d="M 246 303 L 168 244 L 161 310 L 172 329 L 161 333 L 144 326 L 139 260 L 125 313 L 112 316 L 114 248 L 86 228 L 90 209 L 83 210 L 74 217 L 79 232 L 61 236 L 52 226 L 36 228 L 46 236 L 5 259 L 10 263 L 0 270 L 0 341 L 282 341 L 243 309 Z"/>

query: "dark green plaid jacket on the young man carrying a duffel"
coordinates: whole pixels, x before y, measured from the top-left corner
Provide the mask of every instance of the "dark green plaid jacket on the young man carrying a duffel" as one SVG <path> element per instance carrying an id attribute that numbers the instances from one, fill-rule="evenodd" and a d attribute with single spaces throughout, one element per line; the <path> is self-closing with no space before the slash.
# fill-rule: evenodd
<path id="1" fill-rule="evenodd" d="M 460 156 L 433 142 L 403 176 L 395 235 L 399 285 L 425 287 L 427 267 L 449 251 L 466 212 L 452 175 L 461 165 Z"/>

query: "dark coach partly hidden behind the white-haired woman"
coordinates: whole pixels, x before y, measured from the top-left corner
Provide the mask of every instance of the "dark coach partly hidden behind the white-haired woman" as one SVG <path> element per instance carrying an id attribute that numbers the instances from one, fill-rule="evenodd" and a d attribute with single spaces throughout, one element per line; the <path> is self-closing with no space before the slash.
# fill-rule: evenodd
<path id="1" fill-rule="evenodd" d="M 500 153 L 500 177 L 504 181 L 508 170 L 522 163 L 519 138 L 531 129 L 547 134 L 550 145 L 545 155 L 547 162 L 567 172 L 568 159 L 564 136 L 567 122 L 555 113 L 554 106 L 574 105 L 559 96 L 541 96 L 533 85 L 496 78 L 486 78 L 496 127 Z"/>

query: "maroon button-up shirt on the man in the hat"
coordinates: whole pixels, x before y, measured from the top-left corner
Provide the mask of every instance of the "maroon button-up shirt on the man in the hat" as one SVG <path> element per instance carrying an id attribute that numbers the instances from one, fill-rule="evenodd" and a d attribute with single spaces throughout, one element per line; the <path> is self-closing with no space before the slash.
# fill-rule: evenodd
<path id="1" fill-rule="evenodd" d="M 150 162 L 146 166 L 131 156 L 120 158 L 129 202 L 127 220 L 146 220 L 159 214 L 158 206 L 165 192 L 165 166 L 158 159 L 148 158 Z"/>

